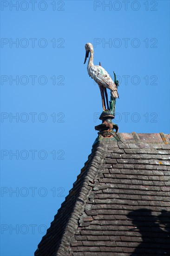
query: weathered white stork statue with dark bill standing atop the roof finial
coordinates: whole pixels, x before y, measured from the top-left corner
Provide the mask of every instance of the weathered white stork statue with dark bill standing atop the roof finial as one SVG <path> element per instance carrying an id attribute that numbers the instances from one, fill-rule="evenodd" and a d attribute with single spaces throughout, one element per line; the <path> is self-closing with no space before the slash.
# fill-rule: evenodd
<path id="1" fill-rule="evenodd" d="M 103 110 L 105 111 L 106 109 L 105 97 L 107 101 L 107 108 L 109 108 L 106 88 L 108 88 L 111 91 L 111 96 L 113 98 L 118 98 L 117 85 L 114 83 L 114 81 L 111 79 L 111 76 L 107 73 L 107 71 L 103 67 L 93 64 L 94 51 L 91 43 L 86 43 L 85 51 L 86 51 L 85 62 L 89 57 L 89 52 L 90 52 L 90 59 L 88 61 L 87 71 L 89 76 L 91 76 L 94 79 L 94 81 L 96 81 L 96 83 L 100 88 L 100 92 L 102 96 L 102 106 L 103 106 Z M 105 92 L 105 96 L 104 96 L 104 92 Z"/>

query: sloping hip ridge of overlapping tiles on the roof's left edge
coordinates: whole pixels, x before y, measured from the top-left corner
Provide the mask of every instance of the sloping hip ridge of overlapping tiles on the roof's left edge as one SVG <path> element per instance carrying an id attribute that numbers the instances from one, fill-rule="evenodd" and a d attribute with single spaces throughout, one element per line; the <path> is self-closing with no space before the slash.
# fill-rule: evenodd
<path id="1" fill-rule="evenodd" d="M 102 156 L 101 150 L 103 151 L 103 157 L 100 157 Z M 81 178 L 83 178 L 82 185 L 81 185 L 78 197 L 76 199 L 76 202 L 74 204 L 71 217 L 69 218 L 65 226 L 65 231 L 63 232 L 62 238 L 60 240 L 59 249 L 55 254 L 55 256 L 65 256 L 70 253 L 68 248 L 70 243 L 72 242 L 74 233 L 77 230 L 79 216 L 83 214 L 85 210 L 85 205 L 88 200 L 88 195 L 90 195 L 92 191 L 92 186 L 90 185 L 90 183 L 92 184 L 92 180 L 95 179 L 99 169 L 101 168 L 103 162 L 105 161 L 105 147 L 103 146 L 103 144 L 98 142 L 98 144 L 92 148 L 91 155 L 92 155 L 92 158 L 90 159 L 90 162 L 86 166 L 86 171 L 83 171 L 81 174 Z M 98 168 L 96 168 L 97 166 Z M 77 181 L 79 179 L 80 177 L 78 177 Z M 76 186 L 76 182 L 74 182 L 74 187 Z M 74 187 L 72 188 L 72 191 L 74 190 Z M 72 192 L 70 194 L 72 194 Z M 67 251 L 65 251 L 65 247 Z"/>

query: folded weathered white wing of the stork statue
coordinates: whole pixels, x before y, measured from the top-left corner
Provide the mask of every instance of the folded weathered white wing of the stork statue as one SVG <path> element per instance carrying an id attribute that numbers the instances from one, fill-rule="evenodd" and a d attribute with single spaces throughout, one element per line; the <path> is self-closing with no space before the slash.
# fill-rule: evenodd
<path id="1" fill-rule="evenodd" d="M 96 65 L 92 66 L 91 68 L 93 69 L 93 79 L 105 88 L 110 89 L 113 92 L 114 97 L 118 98 L 117 86 L 105 68 Z"/>

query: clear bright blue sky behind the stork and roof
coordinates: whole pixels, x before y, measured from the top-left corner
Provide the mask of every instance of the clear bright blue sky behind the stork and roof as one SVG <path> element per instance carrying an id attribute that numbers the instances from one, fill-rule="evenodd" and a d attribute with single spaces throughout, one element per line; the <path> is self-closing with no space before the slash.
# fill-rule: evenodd
<path id="1" fill-rule="evenodd" d="M 169 4 L 1 0 L 1 256 L 33 256 L 91 153 L 85 43 L 120 81 L 119 132 L 170 133 Z"/>

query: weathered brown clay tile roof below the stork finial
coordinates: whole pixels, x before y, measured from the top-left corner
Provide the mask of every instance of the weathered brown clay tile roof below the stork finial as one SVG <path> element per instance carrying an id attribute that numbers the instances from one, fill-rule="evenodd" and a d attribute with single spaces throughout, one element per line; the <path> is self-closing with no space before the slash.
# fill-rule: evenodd
<path id="1" fill-rule="evenodd" d="M 170 255 L 170 135 L 99 141 L 35 256 Z"/>

